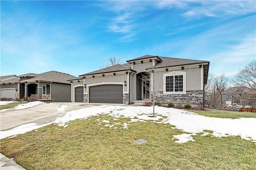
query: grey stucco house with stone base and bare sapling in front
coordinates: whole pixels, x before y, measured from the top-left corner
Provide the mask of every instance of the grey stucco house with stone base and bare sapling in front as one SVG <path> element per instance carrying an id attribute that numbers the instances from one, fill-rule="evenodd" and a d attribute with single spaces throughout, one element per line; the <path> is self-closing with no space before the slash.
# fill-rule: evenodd
<path id="1" fill-rule="evenodd" d="M 209 61 L 202 60 L 145 55 L 128 60 L 126 64 L 70 79 L 72 101 L 123 104 L 152 101 L 153 79 L 143 77 L 148 71 L 154 71 L 158 73 L 154 81 L 162 84 L 157 89 L 157 101 L 199 104 L 204 98 L 209 64 Z"/>

